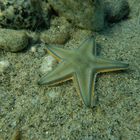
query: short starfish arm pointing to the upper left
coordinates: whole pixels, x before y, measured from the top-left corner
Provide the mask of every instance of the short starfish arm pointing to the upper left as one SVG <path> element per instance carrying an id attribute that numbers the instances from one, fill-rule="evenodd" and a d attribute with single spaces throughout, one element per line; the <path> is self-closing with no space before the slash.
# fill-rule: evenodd
<path id="1" fill-rule="evenodd" d="M 60 48 L 60 46 L 56 46 L 56 45 L 47 46 L 47 51 L 59 61 L 68 58 L 73 53 L 73 51 L 71 50 L 63 49 Z"/>

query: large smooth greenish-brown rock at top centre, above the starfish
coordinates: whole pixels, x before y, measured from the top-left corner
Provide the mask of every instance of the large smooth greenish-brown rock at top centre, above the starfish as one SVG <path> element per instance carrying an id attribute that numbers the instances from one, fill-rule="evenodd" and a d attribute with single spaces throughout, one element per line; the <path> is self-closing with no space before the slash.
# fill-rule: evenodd
<path id="1" fill-rule="evenodd" d="M 61 16 L 81 28 L 98 31 L 104 27 L 102 0 L 48 0 Z"/>

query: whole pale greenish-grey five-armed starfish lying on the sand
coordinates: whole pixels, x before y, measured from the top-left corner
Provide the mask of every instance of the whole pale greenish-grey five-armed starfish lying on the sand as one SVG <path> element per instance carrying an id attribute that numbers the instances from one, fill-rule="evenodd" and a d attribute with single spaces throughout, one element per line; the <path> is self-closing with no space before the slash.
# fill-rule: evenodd
<path id="1" fill-rule="evenodd" d="M 129 66 L 126 63 L 97 56 L 93 36 L 84 40 L 76 49 L 68 50 L 52 45 L 47 46 L 47 51 L 60 63 L 53 71 L 45 74 L 38 84 L 51 86 L 72 79 L 87 107 L 94 105 L 94 85 L 98 73 L 124 70 Z"/>

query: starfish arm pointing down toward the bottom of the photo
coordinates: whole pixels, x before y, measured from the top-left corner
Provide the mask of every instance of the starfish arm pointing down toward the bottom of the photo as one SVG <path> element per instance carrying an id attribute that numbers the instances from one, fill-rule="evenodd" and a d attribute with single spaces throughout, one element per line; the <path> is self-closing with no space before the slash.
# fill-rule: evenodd
<path id="1" fill-rule="evenodd" d="M 88 107 L 93 107 L 94 99 L 94 81 L 93 77 L 96 74 L 91 69 L 79 70 L 74 75 L 74 82 L 80 93 L 84 104 Z"/>

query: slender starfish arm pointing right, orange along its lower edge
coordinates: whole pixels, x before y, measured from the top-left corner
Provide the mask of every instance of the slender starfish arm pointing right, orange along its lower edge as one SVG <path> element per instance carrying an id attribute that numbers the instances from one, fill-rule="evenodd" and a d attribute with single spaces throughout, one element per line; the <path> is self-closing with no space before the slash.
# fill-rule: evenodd
<path id="1" fill-rule="evenodd" d="M 125 70 L 129 66 L 129 64 L 126 64 L 126 63 L 103 59 L 103 58 L 98 58 L 97 63 L 98 63 L 96 66 L 97 72 Z"/>

